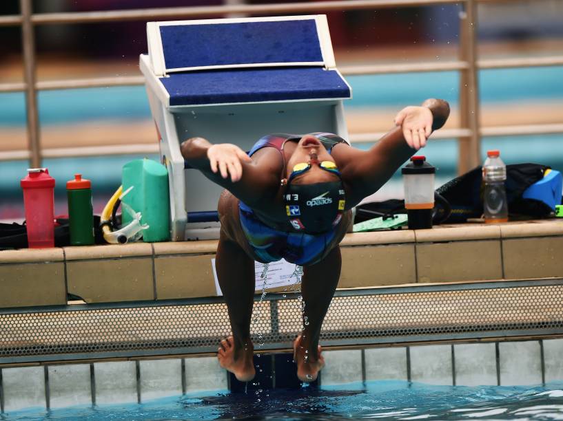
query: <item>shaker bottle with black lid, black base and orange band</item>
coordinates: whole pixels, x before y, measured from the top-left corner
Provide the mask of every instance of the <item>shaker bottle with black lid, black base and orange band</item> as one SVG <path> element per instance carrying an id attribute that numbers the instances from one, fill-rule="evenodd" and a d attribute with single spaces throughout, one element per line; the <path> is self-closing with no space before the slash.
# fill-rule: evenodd
<path id="1" fill-rule="evenodd" d="M 405 186 L 405 208 L 409 217 L 409 229 L 432 228 L 436 168 L 426 162 L 426 157 L 417 155 L 401 169 L 401 173 Z"/>

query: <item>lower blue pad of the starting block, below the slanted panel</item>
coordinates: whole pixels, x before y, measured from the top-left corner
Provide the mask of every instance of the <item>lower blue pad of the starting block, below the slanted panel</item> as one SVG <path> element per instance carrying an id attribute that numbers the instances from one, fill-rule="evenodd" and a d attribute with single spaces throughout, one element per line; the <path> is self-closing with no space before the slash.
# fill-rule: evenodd
<path id="1" fill-rule="evenodd" d="M 160 80 L 171 107 L 350 97 L 342 76 L 322 67 L 187 72 Z"/>

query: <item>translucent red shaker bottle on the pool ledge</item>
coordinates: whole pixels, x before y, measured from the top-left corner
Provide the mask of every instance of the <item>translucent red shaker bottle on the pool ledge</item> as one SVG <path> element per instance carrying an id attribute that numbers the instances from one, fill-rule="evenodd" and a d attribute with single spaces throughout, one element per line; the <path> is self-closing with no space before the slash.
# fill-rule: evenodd
<path id="1" fill-rule="evenodd" d="M 30 168 L 20 184 L 28 247 L 54 247 L 54 178 L 46 168 Z"/>

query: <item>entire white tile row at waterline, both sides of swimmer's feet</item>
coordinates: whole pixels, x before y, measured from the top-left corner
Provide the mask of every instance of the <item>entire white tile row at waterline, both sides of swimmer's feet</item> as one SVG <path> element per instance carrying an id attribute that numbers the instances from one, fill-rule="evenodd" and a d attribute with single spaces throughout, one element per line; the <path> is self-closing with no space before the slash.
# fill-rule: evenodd
<path id="1" fill-rule="evenodd" d="M 320 383 L 369 380 L 435 385 L 538 385 L 563 380 L 563 338 L 543 341 L 325 350 Z M 288 358 L 287 363 L 292 364 Z M 0 409 L 146 402 L 227 389 L 216 357 L 0 369 Z"/>

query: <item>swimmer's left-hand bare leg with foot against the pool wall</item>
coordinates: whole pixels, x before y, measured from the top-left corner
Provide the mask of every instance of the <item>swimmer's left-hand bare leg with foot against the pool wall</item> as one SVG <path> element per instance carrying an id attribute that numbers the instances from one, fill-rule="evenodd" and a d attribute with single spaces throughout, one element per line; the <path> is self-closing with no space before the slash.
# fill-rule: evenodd
<path id="1" fill-rule="evenodd" d="M 221 231 L 215 268 L 229 310 L 233 332 L 233 336 L 221 341 L 217 358 L 221 367 L 231 371 L 238 380 L 252 380 L 256 374 L 252 362 L 254 347 L 250 340 L 250 319 L 254 303 L 254 261 Z"/>

